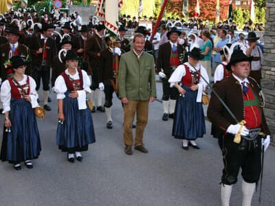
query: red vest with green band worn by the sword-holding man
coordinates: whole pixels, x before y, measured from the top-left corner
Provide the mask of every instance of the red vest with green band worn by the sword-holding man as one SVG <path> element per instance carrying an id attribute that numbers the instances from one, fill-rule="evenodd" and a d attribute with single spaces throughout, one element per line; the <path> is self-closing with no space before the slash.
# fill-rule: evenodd
<path id="1" fill-rule="evenodd" d="M 259 128 L 262 124 L 260 114 L 260 98 L 254 93 L 250 84 L 248 84 L 248 91 L 243 93 L 243 108 L 245 117 L 245 126 L 248 128 Z"/>

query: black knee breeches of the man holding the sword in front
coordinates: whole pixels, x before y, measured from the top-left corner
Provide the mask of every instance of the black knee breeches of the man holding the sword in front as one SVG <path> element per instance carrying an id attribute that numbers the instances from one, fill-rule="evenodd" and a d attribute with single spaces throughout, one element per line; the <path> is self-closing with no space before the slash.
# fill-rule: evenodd
<path id="1" fill-rule="evenodd" d="M 233 135 L 219 138 L 219 146 L 223 152 L 223 175 L 221 183 L 236 183 L 239 170 L 247 183 L 257 183 L 261 175 L 261 136 L 253 141 L 241 139 L 240 144 L 234 143 Z"/>

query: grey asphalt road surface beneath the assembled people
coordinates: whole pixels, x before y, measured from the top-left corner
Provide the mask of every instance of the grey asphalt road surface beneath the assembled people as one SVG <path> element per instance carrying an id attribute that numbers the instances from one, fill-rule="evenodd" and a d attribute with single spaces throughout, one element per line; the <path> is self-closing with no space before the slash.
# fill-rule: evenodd
<path id="1" fill-rule="evenodd" d="M 157 93 L 162 95 L 157 83 Z M 54 100 L 55 95 L 50 95 Z M 41 94 L 42 97 L 42 94 Z M 144 143 L 148 154 L 133 151 L 127 156 L 122 143 L 122 108 L 114 98 L 113 130 L 105 127 L 103 113 L 94 113 L 96 144 L 83 152 L 83 163 L 69 163 L 57 149 L 56 100 L 45 119 L 39 119 L 43 151 L 34 169 L 15 171 L 0 163 L 0 205 L 220 205 L 221 152 L 217 139 L 207 135 L 197 142 L 201 150 L 182 150 L 171 136 L 173 122 L 163 122 L 162 104 L 150 104 Z M 0 118 L 3 124 L 3 116 Z M 0 133 L 2 130 L 0 131 Z M 1 137 L 0 137 L 1 141 Z M 265 154 L 263 200 L 275 205 L 275 149 Z M 232 192 L 232 205 L 241 205 L 241 177 Z M 259 192 L 253 204 L 259 205 Z"/>

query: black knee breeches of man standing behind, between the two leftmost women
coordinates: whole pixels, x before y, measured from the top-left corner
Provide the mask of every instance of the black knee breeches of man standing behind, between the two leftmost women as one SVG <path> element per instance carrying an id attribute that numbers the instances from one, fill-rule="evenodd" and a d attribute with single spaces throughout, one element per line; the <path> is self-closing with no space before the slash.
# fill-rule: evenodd
<path id="1" fill-rule="evenodd" d="M 32 77 L 36 82 L 36 91 L 40 88 L 42 78 L 43 91 L 50 90 L 50 67 L 32 65 Z"/>

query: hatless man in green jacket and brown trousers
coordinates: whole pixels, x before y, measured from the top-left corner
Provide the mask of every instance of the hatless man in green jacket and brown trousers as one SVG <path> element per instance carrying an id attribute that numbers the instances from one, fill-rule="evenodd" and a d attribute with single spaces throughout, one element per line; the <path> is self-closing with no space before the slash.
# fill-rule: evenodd
<path id="1" fill-rule="evenodd" d="M 148 121 L 148 104 L 156 98 L 155 63 L 151 54 L 143 52 L 144 36 L 135 34 L 133 50 L 122 54 L 118 72 L 118 91 L 124 104 L 123 139 L 126 155 L 132 155 L 132 125 L 135 113 L 137 124 L 135 131 L 135 150 L 147 153 L 143 146 L 144 128 Z"/>

